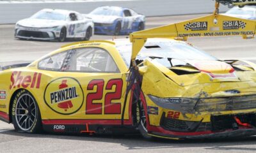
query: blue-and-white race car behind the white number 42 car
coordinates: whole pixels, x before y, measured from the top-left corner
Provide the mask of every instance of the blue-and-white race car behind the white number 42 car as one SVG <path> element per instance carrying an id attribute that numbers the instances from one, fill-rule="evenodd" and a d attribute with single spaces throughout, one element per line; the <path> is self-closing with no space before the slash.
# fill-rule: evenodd
<path id="1" fill-rule="evenodd" d="M 85 16 L 93 19 L 95 34 L 129 34 L 145 28 L 145 16 L 129 8 L 101 6 Z"/>

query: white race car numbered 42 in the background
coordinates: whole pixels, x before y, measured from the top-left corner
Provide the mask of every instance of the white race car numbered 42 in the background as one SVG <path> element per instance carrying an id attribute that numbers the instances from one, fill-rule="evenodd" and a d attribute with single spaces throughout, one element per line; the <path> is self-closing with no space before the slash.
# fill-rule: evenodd
<path id="1" fill-rule="evenodd" d="M 68 10 L 43 9 L 30 18 L 19 20 L 15 25 L 15 38 L 27 40 L 90 40 L 93 33 L 92 19 Z"/>

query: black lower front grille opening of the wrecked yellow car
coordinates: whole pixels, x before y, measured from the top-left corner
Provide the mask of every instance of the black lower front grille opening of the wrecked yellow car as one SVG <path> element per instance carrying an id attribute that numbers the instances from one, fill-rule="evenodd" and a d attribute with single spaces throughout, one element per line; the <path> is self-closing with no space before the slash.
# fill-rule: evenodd
<path id="1" fill-rule="evenodd" d="M 237 121 L 238 120 L 238 121 Z M 256 114 L 230 114 L 211 116 L 211 122 L 193 122 L 171 119 L 162 115 L 160 126 L 168 131 L 200 132 L 200 131 L 225 131 L 239 128 L 254 128 L 256 126 Z"/>

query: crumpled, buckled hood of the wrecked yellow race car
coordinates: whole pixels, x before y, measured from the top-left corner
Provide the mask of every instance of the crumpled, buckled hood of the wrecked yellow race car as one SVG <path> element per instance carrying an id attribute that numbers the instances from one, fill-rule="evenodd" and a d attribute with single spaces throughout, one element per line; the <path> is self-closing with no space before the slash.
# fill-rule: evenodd
<path id="1" fill-rule="evenodd" d="M 166 77 L 170 78 L 178 85 L 195 85 L 216 82 L 252 82 L 256 81 L 256 65 L 239 66 L 228 64 L 223 61 L 196 61 L 187 60 L 184 66 L 173 66 L 166 68 L 159 62 L 154 60 L 146 60 L 144 66 L 141 68 L 141 73 L 145 69 L 150 70 L 154 66 L 159 69 Z"/>

